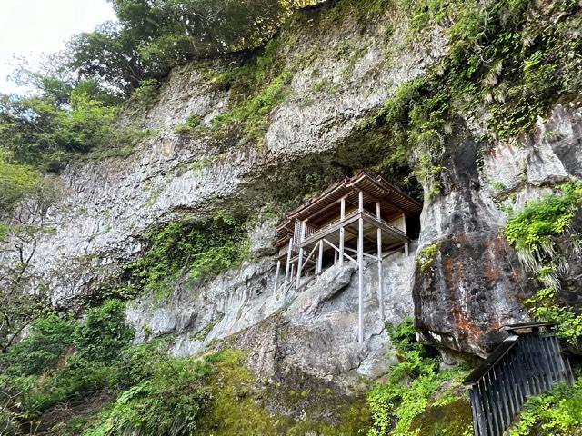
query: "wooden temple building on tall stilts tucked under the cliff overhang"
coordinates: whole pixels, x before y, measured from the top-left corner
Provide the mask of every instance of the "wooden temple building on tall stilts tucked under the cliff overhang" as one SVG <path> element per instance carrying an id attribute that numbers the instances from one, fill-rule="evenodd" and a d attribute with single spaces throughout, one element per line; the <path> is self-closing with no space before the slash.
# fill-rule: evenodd
<path id="1" fill-rule="evenodd" d="M 275 292 L 301 284 L 306 275 L 320 274 L 335 263 L 352 262 L 358 268 L 358 341 L 363 342 L 364 257 L 378 264 L 378 301 L 384 319 L 382 262 L 404 249 L 408 254 L 406 223 L 418 221 L 422 204 L 386 182 L 361 172 L 333 184 L 295 210 L 277 226 L 279 249 Z M 285 278 L 277 287 L 281 267 Z"/>

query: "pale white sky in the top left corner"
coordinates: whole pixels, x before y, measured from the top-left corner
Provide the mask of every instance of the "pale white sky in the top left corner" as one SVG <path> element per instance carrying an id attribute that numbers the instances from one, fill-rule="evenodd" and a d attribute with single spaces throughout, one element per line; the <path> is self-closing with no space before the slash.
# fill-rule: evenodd
<path id="1" fill-rule="evenodd" d="M 0 0 L 0 93 L 25 92 L 7 80 L 15 55 L 34 66 L 43 53 L 64 48 L 72 35 L 114 19 L 106 0 Z"/>

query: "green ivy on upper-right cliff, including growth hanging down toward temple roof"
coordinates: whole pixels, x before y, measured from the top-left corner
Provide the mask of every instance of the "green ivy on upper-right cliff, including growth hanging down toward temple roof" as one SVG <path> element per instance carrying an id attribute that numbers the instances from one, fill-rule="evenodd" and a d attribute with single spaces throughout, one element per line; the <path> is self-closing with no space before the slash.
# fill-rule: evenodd
<path id="1" fill-rule="evenodd" d="M 568 0 L 419 1 L 413 8 L 410 38 L 440 27 L 449 52 L 361 125 L 387 126 L 390 153 L 378 167 L 413 162 L 430 197 L 440 192 L 440 162 L 459 115 L 482 124 L 488 138 L 510 140 L 580 95 L 582 15 Z"/>

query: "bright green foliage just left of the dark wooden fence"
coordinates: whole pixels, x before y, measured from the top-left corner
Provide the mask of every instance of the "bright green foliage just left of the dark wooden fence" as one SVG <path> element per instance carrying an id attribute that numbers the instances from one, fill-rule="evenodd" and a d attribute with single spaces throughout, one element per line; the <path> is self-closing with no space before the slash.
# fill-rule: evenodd
<path id="1" fill-rule="evenodd" d="M 412 320 L 392 326 L 388 333 L 396 349 L 398 363 L 390 368 L 386 382 L 378 383 L 368 394 L 372 411 L 373 428 L 368 436 L 409 436 L 428 434 L 417 420 L 430 408 L 450 406 L 462 400 L 463 412 L 457 413 L 453 421 L 441 422 L 437 434 L 465 435 L 472 432 L 468 399 L 459 394 L 460 381 L 467 372 L 460 370 L 438 371 L 438 359 L 422 344 L 416 342 L 416 331 Z M 437 399 L 434 394 L 443 387 Z M 430 429 L 433 431 L 435 429 Z"/>

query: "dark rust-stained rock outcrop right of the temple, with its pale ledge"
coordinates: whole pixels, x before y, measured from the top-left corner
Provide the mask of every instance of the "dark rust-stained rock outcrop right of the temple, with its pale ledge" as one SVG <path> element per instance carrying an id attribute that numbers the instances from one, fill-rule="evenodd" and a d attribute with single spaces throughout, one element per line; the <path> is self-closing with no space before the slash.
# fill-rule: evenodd
<path id="1" fill-rule="evenodd" d="M 485 355 L 503 339 L 500 326 L 529 321 L 523 302 L 537 282 L 500 232 L 503 205 L 519 209 L 543 187 L 579 177 L 581 129 L 579 109 L 557 106 L 523 142 L 489 144 L 480 170 L 475 137 L 459 140 L 445 164 L 445 193 L 426 202 L 422 216 L 420 245 L 438 245 L 431 271 L 415 276 L 416 325 L 426 342 Z M 576 256 L 570 264 L 576 277 Z"/>

